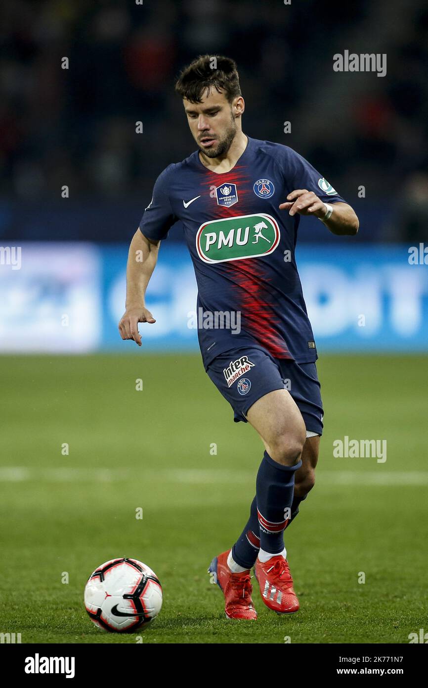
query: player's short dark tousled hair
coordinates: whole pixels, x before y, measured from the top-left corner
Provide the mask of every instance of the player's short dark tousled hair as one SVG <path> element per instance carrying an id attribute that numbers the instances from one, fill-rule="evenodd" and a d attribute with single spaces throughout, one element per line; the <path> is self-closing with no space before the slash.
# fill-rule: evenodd
<path id="1" fill-rule="evenodd" d="M 223 55 L 199 55 L 185 67 L 175 83 L 175 90 L 190 103 L 201 103 L 207 89 L 224 92 L 229 103 L 240 96 L 236 62 Z"/>

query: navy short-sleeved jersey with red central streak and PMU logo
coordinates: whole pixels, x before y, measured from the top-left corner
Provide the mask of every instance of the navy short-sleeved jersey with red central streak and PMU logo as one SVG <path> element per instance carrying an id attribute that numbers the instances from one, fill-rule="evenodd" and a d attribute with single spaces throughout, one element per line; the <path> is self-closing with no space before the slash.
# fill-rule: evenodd
<path id="1" fill-rule="evenodd" d="M 273 358 L 316 361 L 294 255 L 300 216 L 278 209 L 295 189 L 343 201 L 291 148 L 249 137 L 229 172 L 207 169 L 195 151 L 157 178 L 139 228 L 157 241 L 183 224 L 205 369 L 218 354 L 247 345 Z"/>

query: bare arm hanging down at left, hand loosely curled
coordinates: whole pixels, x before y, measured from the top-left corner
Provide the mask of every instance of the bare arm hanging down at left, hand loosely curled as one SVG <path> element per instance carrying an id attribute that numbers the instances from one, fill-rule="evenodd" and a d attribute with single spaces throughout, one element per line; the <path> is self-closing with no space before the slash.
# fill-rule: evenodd
<path id="1" fill-rule="evenodd" d="M 126 265 L 126 305 L 119 323 L 122 339 L 133 339 L 142 345 L 138 323 L 155 323 L 153 315 L 147 310 L 144 296 L 150 277 L 157 263 L 160 241 L 148 239 L 137 229 L 128 252 Z"/>

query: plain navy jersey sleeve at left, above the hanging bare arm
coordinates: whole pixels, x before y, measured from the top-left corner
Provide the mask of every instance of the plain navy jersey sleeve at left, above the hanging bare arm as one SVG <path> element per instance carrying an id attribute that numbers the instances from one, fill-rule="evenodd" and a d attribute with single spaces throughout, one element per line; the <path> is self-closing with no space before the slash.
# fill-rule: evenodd
<path id="1" fill-rule="evenodd" d="M 159 175 L 153 187 L 152 200 L 144 210 L 144 215 L 139 223 L 139 230 L 148 239 L 153 241 L 160 241 L 168 237 L 168 231 L 171 226 L 177 222 L 178 217 L 175 217 L 172 211 L 169 189 L 168 176 L 171 166 L 164 169 Z"/>

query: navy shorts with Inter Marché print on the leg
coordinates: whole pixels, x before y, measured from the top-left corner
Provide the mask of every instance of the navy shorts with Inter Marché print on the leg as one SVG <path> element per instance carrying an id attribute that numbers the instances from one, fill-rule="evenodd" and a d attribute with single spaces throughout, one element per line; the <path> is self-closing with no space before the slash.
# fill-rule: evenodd
<path id="1" fill-rule="evenodd" d="M 322 399 L 315 363 L 273 358 L 262 349 L 244 347 L 220 354 L 207 368 L 218 391 L 234 409 L 234 421 L 247 422 L 248 409 L 274 389 L 288 389 L 306 424 L 322 435 Z"/>

